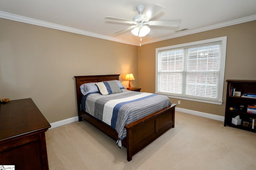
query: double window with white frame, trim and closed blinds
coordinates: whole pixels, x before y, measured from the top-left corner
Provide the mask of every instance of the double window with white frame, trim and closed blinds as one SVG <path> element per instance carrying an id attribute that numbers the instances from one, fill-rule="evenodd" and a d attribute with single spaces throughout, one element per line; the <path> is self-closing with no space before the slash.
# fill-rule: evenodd
<path id="1" fill-rule="evenodd" d="M 156 49 L 156 93 L 222 104 L 226 37 Z"/>

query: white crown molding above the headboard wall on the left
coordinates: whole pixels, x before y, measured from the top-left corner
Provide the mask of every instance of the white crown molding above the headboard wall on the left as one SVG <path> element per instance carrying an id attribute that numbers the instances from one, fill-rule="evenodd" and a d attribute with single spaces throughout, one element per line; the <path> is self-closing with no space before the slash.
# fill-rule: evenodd
<path id="1" fill-rule="evenodd" d="M 58 25 L 58 24 L 50 23 L 50 22 L 46 22 L 46 21 L 35 20 L 33 18 L 18 16 L 18 15 L 15 15 L 15 14 L 10 14 L 10 13 L 7 13 L 7 12 L 2 12 L 2 11 L 0 11 L 0 18 L 5 18 L 5 19 L 8 19 L 8 20 L 14 20 L 14 21 L 19 21 L 19 22 L 24 22 L 24 23 L 29 23 L 29 24 L 33 24 L 33 25 L 42 26 L 42 27 L 48 27 L 48 28 L 52 28 L 52 29 L 58 29 L 58 30 L 67 31 L 67 32 L 71 32 L 71 33 L 77 33 L 77 34 L 81 34 L 81 35 L 87 35 L 87 36 L 90 36 L 90 37 L 96 37 L 96 38 L 106 39 L 106 40 L 110 40 L 110 41 L 116 41 L 116 42 L 119 42 L 119 43 L 125 43 L 125 44 L 130 44 L 130 45 L 138 45 L 137 43 L 132 44 L 131 42 L 122 41 L 120 39 L 115 39 L 113 37 L 109 37 L 109 36 L 106 36 L 106 35 L 92 33 L 92 32 L 89 32 L 89 31 L 84 31 L 82 29 L 76 29 L 76 28 L 67 27 L 67 26 L 63 26 L 63 25 Z"/>

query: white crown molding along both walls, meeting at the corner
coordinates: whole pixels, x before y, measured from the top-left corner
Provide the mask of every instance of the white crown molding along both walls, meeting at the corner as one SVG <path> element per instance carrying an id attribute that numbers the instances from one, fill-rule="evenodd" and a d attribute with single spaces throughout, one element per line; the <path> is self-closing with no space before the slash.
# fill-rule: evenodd
<path id="1" fill-rule="evenodd" d="M 58 24 L 50 23 L 50 22 L 46 22 L 46 21 L 35 20 L 32 18 L 18 16 L 18 15 L 10 14 L 7 12 L 0 11 L 0 18 L 5 18 L 8 20 L 14 20 L 14 21 L 20 21 L 20 22 L 38 25 L 38 26 L 42 26 L 42 27 L 48 27 L 48 28 L 52 28 L 52 29 L 58 29 L 58 30 L 68 31 L 68 32 L 77 33 L 77 34 L 81 34 L 81 35 L 87 35 L 90 37 L 96 37 L 96 38 L 100 38 L 100 39 L 106 39 L 106 40 L 110 40 L 110 41 L 116 41 L 119 43 L 125 43 L 125 44 L 138 46 L 138 43 L 131 43 L 131 42 L 123 41 L 123 40 L 116 39 L 116 38 L 113 38 L 110 36 L 92 33 L 89 31 L 84 31 L 84 30 L 76 29 L 76 28 L 72 28 L 72 27 L 66 27 L 63 25 L 58 25 Z M 149 44 L 149 43 L 155 43 L 155 42 L 163 41 L 166 39 L 181 37 L 184 35 L 199 33 L 199 32 L 203 32 L 203 31 L 209 31 L 209 30 L 217 29 L 217 28 L 221 28 L 221 27 L 227 27 L 230 25 L 236 25 L 236 24 L 244 23 L 244 22 L 248 22 L 248 21 L 254 21 L 254 20 L 256 20 L 256 15 L 252 15 L 252 16 L 248 16 L 248 17 L 244 17 L 244 18 L 240 18 L 240 19 L 236 19 L 236 20 L 231 20 L 231 21 L 227 21 L 227 22 L 222 22 L 222 23 L 218 23 L 218 24 L 214 24 L 214 25 L 210 25 L 210 26 L 206 26 L 206 27 L 197 28 L 197 29 L 191 29 L 191 30 L 174 33 L 170 36 L 164 36 L 162 38 L 154 39 L 152 41 L 146 41 L 142 45 Z"/>

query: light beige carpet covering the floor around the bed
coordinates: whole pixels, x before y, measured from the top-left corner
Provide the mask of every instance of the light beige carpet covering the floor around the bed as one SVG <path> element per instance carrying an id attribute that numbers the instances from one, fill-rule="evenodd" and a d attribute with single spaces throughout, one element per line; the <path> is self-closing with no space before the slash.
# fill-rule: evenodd
<path id="1" fill-rule="evenodd" d="M 90 125 L 46 132 L 50 170 L 255 170 L 256 133 L 176 111 L 175 128 L 126 160 L 126 148 Z"/>

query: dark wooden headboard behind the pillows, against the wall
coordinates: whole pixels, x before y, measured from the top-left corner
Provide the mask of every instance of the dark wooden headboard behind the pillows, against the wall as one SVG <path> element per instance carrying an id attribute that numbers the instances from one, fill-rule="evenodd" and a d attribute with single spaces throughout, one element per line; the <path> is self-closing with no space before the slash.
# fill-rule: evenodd
<path id="1" fill-rule="evenodd" d="M 76 78 L 76 101 L 78 106 L 78 111 L 80 110 L 82 93 L 80 90 L 80 86 L 84 83 L 92 83 L 92 82 L 104 82 L 110 80 L 119 80 L 120 74 L 112 74 L 112 75 L 97 75 L 97 76 L 74 76 Z"/>

